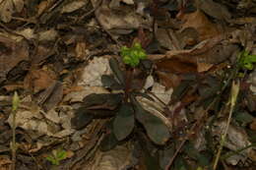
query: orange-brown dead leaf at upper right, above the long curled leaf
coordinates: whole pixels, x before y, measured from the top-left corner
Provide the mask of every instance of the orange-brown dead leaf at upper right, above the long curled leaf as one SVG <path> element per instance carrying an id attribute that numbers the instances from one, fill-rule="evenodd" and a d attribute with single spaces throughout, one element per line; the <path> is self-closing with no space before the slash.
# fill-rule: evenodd
<path id="1" fill-rule="evenodd" d="M 199 33 L 199 41 L 215 37 L 221 33 L 219 28 L 210 22 L 204 13 L 202 13 L 200 10 L 184 15 L 182 21 L 184 24 L 181 30 L 185 28 L 196 29 Z"/>

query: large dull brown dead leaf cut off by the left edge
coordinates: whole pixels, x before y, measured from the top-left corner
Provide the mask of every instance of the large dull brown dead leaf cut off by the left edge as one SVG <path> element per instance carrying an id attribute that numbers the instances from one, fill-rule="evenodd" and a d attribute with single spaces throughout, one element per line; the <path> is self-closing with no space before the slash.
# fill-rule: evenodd
<path id="1" fill-rule="evenodd" d="M 0 83 L 6 80 L 6 76 L 20 62 L 29 60 L 29 45 L 22 40 L 16 42 L 8 37 L 0 35 Z"/>

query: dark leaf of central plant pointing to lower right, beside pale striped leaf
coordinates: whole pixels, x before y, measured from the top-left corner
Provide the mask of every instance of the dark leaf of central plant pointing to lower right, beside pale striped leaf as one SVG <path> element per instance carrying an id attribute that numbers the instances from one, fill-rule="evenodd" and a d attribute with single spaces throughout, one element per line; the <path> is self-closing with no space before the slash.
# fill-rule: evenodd
<path id="1" fill-rule="evenodd" d="M 160 118 L 143 109 L 137 100 L 133 99 L 133 103 L 136 106 L 136 119 L 144 126 L 150 139 L 157 144 L 167 142 L 170 134 Z"/>

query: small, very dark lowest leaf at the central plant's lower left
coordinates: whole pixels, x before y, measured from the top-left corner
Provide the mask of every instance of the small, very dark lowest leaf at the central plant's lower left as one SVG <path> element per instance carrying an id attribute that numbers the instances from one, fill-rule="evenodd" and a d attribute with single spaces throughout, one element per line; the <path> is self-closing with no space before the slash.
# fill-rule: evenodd
<path id="1" fill-rule="evenodd" d="M 104 139 L 100 142 L 99 148 L 101 151 L 107 151 L 114 148 L 118 141 L 113 133 L 105 135 Z"/>

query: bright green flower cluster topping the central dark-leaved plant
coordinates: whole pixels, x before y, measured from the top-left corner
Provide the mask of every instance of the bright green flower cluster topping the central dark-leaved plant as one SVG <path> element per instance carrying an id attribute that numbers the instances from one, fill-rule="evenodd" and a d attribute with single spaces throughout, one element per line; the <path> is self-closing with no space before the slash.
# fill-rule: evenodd
<path id="1" fill-rule="evenodd" d="M 121 48 L 121 56 L 123 57 L 123 62 L 132 67 L 139 65 L 140 60 L 146 59 L 147 55 L 142 45 L 135 42 L 131 48 L 123 46 Z"/>

